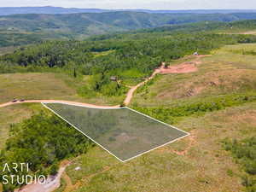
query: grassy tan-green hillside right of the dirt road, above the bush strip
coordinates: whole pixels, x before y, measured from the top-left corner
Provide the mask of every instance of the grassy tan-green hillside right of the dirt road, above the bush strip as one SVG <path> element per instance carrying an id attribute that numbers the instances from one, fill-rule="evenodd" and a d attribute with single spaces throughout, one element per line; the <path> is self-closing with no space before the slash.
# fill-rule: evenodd
<path id="1" fill-rule="evenodd" d="M 213 51 L 212 56 L 201 59 L 197 72 L 161 75 L 154 84 L 137 90 L 131 105 L 170 106 L 200 101 L 207 96 L 253 91 L 256 88 L 256 57 L 237 52 L 253 49 L 256 44 L 229 45 Z"/>

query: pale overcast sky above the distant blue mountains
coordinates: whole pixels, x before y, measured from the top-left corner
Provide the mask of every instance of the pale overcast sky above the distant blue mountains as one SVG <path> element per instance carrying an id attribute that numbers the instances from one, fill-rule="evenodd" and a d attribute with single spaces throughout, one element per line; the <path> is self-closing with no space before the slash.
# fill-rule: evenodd
<path id="1" fill-rule="evenodd" d="M 256 9 L 256 0 L 0 0 L 0 7 L 99 9 Z"/>

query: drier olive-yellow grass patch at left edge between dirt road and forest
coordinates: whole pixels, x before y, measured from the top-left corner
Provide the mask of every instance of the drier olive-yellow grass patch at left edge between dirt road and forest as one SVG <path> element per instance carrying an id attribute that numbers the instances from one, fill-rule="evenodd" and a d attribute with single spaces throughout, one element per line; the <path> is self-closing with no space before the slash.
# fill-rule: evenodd
<path id="1" fill-rule="evenodd" d="M 67 99 L 76 91 L 67 86 L 54 73 L 10 73 L 0 75 L 0 102 L 13 98 Z"/>

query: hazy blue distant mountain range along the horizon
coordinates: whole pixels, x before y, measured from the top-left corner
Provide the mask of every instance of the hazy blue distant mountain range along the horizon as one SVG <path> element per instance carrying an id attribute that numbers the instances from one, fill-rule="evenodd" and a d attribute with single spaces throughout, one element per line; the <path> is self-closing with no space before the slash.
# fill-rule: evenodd
<path id="1" fill-rule="evenodd" d="M 0 7 L 0 15 L 15 14 L 79 14 L 79 13 L 105 13 L 116 11 L 144 12 L 154 14 L 232 14 L 256 13 L 256 9 L 192 9 L 192 10 L 149 10 L 149 9 L 78 9 L 61 7 Z"/>

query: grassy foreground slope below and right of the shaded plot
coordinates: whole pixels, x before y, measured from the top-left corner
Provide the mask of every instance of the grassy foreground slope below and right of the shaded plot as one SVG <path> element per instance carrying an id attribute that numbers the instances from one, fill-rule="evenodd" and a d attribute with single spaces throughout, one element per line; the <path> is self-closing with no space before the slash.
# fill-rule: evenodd
<path id="1" fill-rule="evenodd" d="M 184 119 L 178 126 L 193 131 L 195 136 L 195 143 L 185 155 L 173 150 L 187 148 L 189 137 L 125 164 L 101 148 L 93 148 L 67 167 L 73 182 L 73 188 L 67 191 L 240 192 L 241 180 L 236 174 L 241 171 L 220 142 L 225 137 L 244 138 L 252 132 L 256 135 L 255 114 L 253 103 Z M 81 170 L 75 171 L 77 166 Z"/>

